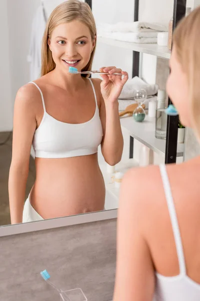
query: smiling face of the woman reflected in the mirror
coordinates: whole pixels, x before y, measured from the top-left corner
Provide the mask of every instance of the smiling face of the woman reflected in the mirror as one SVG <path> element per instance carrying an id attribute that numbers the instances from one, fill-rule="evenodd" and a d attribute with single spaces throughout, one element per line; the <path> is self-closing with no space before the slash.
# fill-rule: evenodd
<path id="1" fill-rule="evenodd" d="M 69 66 L 81 71 L 89 62 L 94 45 L 88 27 L 77 20 L 58 25 L 48 40 L 56 68 L 64 73 L 68 73 Z"/>

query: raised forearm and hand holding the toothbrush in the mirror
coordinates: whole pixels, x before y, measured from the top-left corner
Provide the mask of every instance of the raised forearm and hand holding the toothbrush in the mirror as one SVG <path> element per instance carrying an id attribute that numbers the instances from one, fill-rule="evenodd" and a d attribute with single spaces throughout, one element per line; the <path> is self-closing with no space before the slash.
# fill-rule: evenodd
<path id="1" fill-rule="evenodd" d="M 115 165 L 121 160 L 123 152 L 123 136 L 118 114 L 118 97 L 123 85 L 128 79 L 127 72 L 115 67 L 101 68 L 101 71 L 109 72 L 110 75 L 102 75 L 100 102 L 100 119 L 103 128 L 103 139 L 101 142 L 101 152 L 109 165 Z M 121 73 L 121 76 L 111 75 Z"/>

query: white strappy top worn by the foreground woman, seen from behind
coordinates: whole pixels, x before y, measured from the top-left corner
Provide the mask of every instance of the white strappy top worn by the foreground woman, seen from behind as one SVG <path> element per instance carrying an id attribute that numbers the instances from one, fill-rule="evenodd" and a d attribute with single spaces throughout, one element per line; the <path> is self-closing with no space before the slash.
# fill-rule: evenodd
<path id="1" fill-rule="evenodd" d="M 186 274 L 186 266 L 178 221 L 171 194 L 170 184 L 164 165 L 160 166 L 160 173 L 173 229 L 180 273 L 179 275 L 173 277 L 165 277 L 156 273 L 156 284 L 153 301 L 199 301 L 200 284 L 193 281 Z"/>

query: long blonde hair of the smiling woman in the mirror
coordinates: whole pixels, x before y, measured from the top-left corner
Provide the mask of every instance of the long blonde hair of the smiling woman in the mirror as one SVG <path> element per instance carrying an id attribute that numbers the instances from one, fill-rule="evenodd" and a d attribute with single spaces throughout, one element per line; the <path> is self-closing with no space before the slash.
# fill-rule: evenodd
<path id="1" fill-rule="evenodd" d="M 48 38 L 51 38 L 52 32 L 60 24 L 78 20 L 86 25 L 90 31 L 92 41 L 96 36 L 95 21 L 88 4 L 80 2 L 79 0 L 68 0 L 57 6 L 51 13 L 44 31 L 41 49 L 41 76 L 55 69 L 55 63 L 52 58 L 51 51 L 48 47 Z M 91 53 L 89 62 L 82 69 L 82 71 L 91 70 L 91 65 L 94 57 L 95 47 Z M 88 77 L 87 75 L 83 75 Z"/>

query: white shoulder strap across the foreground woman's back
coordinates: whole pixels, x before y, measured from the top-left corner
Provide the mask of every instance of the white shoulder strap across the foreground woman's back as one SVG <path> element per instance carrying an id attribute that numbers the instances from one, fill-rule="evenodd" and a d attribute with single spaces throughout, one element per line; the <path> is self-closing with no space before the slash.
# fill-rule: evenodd
<path id="1" fill-rule="evenodd" d="M 162 178 L 165 198 L 168 206 L 168 211 L 170 215 L 170 220 L 171 220 L 171 225 L 172 225 L 172 230 L 173 230 L 173 235 L 174 235 L 174 240 L 176 245 L 176 252 L 178 257 L 180 274 L 185 275 L 186 267 L 185 267 L 184 253 L 182 248 L 182 241 L 181 241 L 180 230 L 178 226 L 178 220 L 175 212 L 175 206 L 171 194 L 170 183 L 169 183 L 165 165 L 160 165 L 159 168 L 160 168 L 160 174 Z"/>

